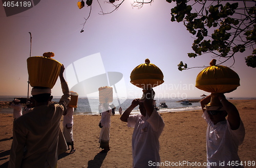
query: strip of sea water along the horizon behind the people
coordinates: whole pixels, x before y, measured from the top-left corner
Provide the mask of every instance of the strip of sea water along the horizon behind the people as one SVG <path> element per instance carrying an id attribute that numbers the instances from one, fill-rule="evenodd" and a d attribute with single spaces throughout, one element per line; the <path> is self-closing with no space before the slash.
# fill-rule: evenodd
<path id="1" fill-rule="evenodd" d="M 15 96 L 0 96 L 0 101 L 12 101 Z M 16 96 L 20 97 L 20 96 Z M 26 97 L 26 96 L 24 96 Z M 58 102 L 60 97 L 53 98 L 52 101 Z M 187 99 L 201 99 L 201 97 L 188 97 Z M 255 98 L 233 98 L 233 99 L 255 99 Z M 122 111 L 127 109 L 134 98 L 113 98 L 113 104 L 116 107 L 115 114 L 119 115 L 119 107 L 122 107 Z M 170 99 L 170 98 L 155 98 L 156 105 L 159 106 L 160 102 L 165 102 L 168 105 L 167 108 L 160 108 L 159 113 L 164 112 L 175 112 L 175 111 L 189 111 L 201 109 L 200 102 L 192 102 L 191 105 L 183 105 L 177 102 L 181 99 Z M 98 98 L 78 98 L 77 108 L 74 111 L 75 115 L 99 115 L 99 99 Z M 12 109 L 0 109 L 0 113 L 12 113 Z M 131 114 L 138 114 L 139 107 L 135 107 Z"/>

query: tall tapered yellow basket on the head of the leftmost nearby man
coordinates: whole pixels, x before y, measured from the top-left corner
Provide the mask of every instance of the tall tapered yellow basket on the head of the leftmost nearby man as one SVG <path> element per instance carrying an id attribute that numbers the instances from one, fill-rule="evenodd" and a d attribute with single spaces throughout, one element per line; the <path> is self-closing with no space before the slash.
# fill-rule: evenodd
<path id="1" fill-rule="evenodd" d="M 28 74 L 31 87 L 53 88 L 62 64 L 45 57 L 30 57 L 27 59 Z"/>

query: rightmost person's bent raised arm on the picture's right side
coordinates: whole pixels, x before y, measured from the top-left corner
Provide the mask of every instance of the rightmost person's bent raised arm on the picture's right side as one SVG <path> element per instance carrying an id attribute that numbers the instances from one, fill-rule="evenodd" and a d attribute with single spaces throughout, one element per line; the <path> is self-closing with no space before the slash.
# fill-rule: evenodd
<path id="1" fill-rule="evenodd" d="M 232 130 L 236 130 L 239 128 L 240 126 L 240 115 L 238 112 L 238 109 L 236 106 L 234 106 L 232 103 L 230 103 L 226 97 L 224 96 L 224 94 L 220 94 L 219 95 L 219 100 L 221 102 L 221 104 L 223 105 L 223 107 L 225 108 L 226 112 L 227 112 L 227 120 L 229 122 L 230 128 Z"/>

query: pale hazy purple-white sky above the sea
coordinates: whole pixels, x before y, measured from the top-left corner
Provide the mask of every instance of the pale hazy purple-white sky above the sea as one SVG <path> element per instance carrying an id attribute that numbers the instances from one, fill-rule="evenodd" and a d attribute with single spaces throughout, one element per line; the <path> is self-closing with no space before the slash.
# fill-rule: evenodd
<path id="1" fill-rule="evenodd" d="M 139 97 L 141 89 L 130 83 L 130 74 L 146 58 L 158 66 L 164 74 L 164 83 L 155 88 L 160 98 L 199 97 L 209 93 L 195 87 L 197 74 L 203 68 L 179 71 L 180 61 L 189 67 L 208 66 L 212 55 L 188 58 L 193 52 L 194 39 L 183 23 L 170 21 L 170 9 L 174 4 L 154 1 L 142 9 L 132 8 L 132 1 L 126 0 L 121 7 L 108 15 L 99 15 L 97 2 L 92 4 L 92 13 L 82 29 L 83 17 L 88 16 L 89 7 L 78 9 L 77 1 L 44 0 L 22 13 L 7 17 L 0 6 L 0 96 L 26 96 L 28 87 L 27 58 L 54 52 L 53 59 L 69 67 L 74 62 L 97 55 L 97 62 L 87 62 L 80 73 L 87 79 L 100 73 L 122 74 L 117 94 L 119 97 Z M 0 3 L 2 4 L 2 3 Z M 105 12 L 111 11 L 110 4 L 104 4 Z M 109 9 L 109 10 L 108 10 Z M 251 52 L 240 53 L 232 70 L 240 76 L 240 87 L 227 97 L 256 97 L 254 89 L 255 68 L 247 67 L 244 58 Z M 79 62 L 79 61 L 78 61 Z M 220 61 L 217 59 L 217 63 Z M 227 62 L 224 66 L 232 65 Z M 67 70 L 67 69 L 66 69 Z M 71 76 L 66 74 L 66 77 Z M 74 80 L 70 80 L 70 85 Z M 91 80 L 91 85 L 96 81 Z M 30 87 L 31 91 L 31 87 Z M 81 91 L 74 91 L 79 94 Z M 59 80 L 52 89 L 53 96 L 61 96 Z M 80 94 L 81 95 L 81 94 Z M 91 95 L 97 96 L 94 92 Z"/>

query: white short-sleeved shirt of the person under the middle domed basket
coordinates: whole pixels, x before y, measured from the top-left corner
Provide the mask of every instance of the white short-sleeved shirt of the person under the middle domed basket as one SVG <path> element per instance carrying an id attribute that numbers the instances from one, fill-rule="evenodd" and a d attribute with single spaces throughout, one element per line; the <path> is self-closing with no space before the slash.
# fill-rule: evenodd
<path id="1" fill-rule="evenodd" d="M 149 162 L 160 162 L 159 137 L 164 128 L 164 122 L 156 109 L 151 117 L 141 114 L 131 115 L 127 126 L 134 127 L 132 137 L 133 167 L 153 167 Z"/>

